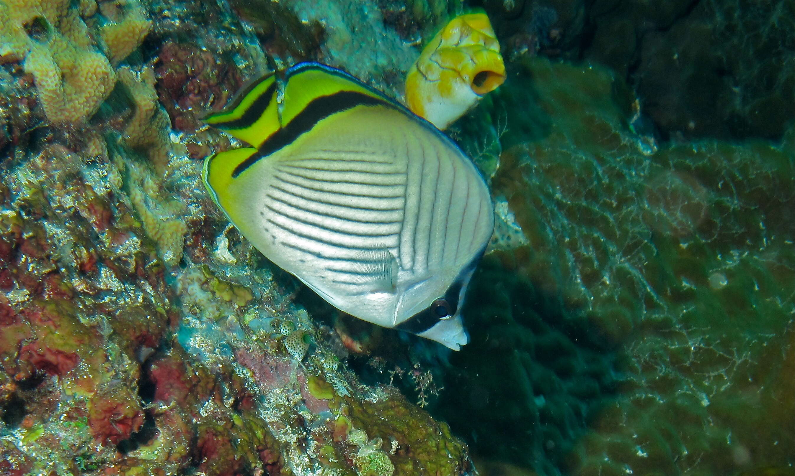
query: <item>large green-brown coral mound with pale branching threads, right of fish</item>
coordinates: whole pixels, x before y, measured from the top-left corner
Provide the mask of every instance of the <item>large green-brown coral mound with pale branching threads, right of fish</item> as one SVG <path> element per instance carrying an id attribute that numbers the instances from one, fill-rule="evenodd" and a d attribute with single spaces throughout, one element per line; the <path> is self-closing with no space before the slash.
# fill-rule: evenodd
<path id="1" fill-rule="evenodd" d="M 540 474 L 792 465 L 792 130 L 656 144 L 610 71 L 518 69 L 480 112 L 508 117 L 492 186 L 529 244 L 473 284 L 473 344 L 452 363 L 456 389 L 483 388 L 447 398 L 482 424 L 454 429 Z"/>

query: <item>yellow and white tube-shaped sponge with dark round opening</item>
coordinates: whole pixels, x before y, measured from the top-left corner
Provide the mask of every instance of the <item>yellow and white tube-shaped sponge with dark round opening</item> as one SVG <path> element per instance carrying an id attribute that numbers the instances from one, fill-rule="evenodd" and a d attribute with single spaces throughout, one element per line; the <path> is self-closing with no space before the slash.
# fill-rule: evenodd
<path id="1" fill-rule="evenodd" d="M 499 43 L 485 13 L 453 18 L 425 46 L 405 79 L 409 109 L 439 129 L 505 81 Z"/>

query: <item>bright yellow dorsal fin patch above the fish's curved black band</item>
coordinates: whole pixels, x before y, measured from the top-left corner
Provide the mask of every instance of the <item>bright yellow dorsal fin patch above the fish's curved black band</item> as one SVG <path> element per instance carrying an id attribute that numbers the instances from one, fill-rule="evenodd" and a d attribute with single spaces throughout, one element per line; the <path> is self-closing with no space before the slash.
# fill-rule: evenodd
<path id="1" fill-rule="evenodd" d="M 324 96 L 332 97 L 337 93 L 345 92 L 363 94 L 366 98 L 391 103 L 382 94 L 378 94 L 359 81 L 359 79 L 355 79 L 343 71 L 320 63 L 301 63 L 288 72 L 288 81 L 287 86 L 285 86 L 285 96 L 281 109 L 281 125 L 284 127 L 289 125 L 298 114 L 307 109 L 310 103 L 316 99 Z M 350 102 L 348 102 L 348 105 L 340 102 L 339 109 L 346 109 L 345 106 L 350 107 L 349 104 Z M 333 102 L 319 107 L 327 109 L 329 113 L 336 112 Z"/>

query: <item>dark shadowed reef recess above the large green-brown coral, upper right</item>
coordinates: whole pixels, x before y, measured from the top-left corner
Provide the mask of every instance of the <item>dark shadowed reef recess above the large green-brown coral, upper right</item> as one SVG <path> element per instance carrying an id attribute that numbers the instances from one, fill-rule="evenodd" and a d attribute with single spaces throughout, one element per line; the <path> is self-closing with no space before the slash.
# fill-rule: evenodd
<path id="1" fill-rule="evenodd" d="M 795 114 L 792 2 L 483 2 L 514 59 L 611 67 L 673 139 L 779 140 Z M 506 40 L 502 40 L 506 38 Z"/>

